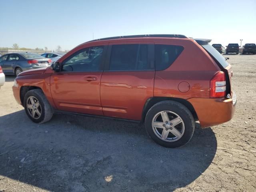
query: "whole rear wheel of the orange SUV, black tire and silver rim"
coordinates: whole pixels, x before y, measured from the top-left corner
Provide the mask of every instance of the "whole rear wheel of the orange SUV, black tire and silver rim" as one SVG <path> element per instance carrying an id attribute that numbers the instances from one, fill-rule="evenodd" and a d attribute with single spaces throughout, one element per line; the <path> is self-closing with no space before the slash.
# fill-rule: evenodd
<path id="1" fill-rule="evenodd" d="M 163 120 L 164 114 L 168 114 L 168 123 Z M 173 120 L 178 118 L 182 121 L 173 125 Z M 153 124 L 156 126 L 153 126 Z M 176 101 L 161 101 L 148 110 L 145 118 L 145 128 L 148 136 L 157 144 L 168 148 L 176 148 L 184 146 L 190 141 L 194 134 L 195 121 L 190 110 L 183 104 Z"/>

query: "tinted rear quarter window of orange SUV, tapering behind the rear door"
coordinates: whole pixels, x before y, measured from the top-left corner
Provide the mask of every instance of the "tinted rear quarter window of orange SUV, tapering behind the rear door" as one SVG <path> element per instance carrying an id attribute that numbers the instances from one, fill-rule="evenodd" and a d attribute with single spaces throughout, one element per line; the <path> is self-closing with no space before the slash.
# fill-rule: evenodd
<path id="1" fill-rule="evenodd" d="M 156 70 L 165 70 L 181 54 L 184 47 L 177 45 L 155 45 Z"/>

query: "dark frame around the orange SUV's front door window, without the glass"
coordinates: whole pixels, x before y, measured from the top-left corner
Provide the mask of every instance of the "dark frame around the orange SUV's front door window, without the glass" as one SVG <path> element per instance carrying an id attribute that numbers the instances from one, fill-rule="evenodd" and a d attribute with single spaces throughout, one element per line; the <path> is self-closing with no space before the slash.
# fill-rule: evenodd
<path id="1" fill-rule="evenodd" d="M 100 67 L 99 67 L 99 70 L 96 70 L 96 71 L 63 71 L 63 65 L 64 65 L 64 62 L 66 62 L 67 60 L 69 60 L 70 58 L 74 57 L 75 55 L 77 55 L 78 52 L 83 52 L 85 49 L 88 49 L 90 47 L 94 47 L 94 46 L 89 46 L 89 47 L 86 47 L 86 48 L 82 48 L 76 52 L 74 52 L 72 55 L 68 56 L 65 60 L 63 60 L 61 63 L 60 63 L 60 72 L 65 72 L 65 73 L 86 73 L 86 72 L 102 72 L 104 70 L 104 62 L 105 62 L 105 59 L 106 59 L 106 53 L 107 53 L 107 49 L 108 49 L 108 46 L 107 45 L 97 45 L 97 46 L 103 46 L 103 51 L 102 51 L 102 57 L 100 59 Z M 79 54 L 79 53 L 78 53 Z"/>

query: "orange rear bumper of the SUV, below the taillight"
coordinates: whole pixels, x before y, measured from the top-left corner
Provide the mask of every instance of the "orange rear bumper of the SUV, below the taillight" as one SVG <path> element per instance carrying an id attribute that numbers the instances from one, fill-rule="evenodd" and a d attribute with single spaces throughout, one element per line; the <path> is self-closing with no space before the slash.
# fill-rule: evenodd
<path id="1" fill-rule="evenodd" d="M 202 128 L 215 126 L 232 119 L 236 108 L 236 94 L 228 98 L 191 98 Z"/>

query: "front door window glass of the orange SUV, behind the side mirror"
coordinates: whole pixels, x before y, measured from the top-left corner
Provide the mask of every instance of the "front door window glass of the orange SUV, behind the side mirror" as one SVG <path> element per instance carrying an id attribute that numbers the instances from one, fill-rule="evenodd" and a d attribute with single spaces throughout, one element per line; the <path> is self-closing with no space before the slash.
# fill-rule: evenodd
<path id="1" fill-rule="evenodd" d="M 86 72 L 99 71 L 104 46 L 82 49 L 62 63 L 62 71 Z"/>

